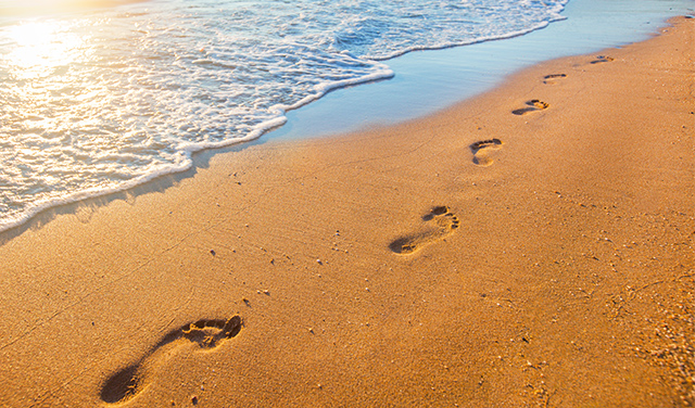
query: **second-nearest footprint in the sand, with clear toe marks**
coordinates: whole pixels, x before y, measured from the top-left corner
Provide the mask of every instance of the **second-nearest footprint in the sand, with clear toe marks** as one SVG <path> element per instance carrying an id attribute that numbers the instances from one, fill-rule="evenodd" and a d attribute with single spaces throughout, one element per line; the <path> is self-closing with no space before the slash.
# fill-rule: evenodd
<path id="1" fill-rule="evenodd" d="M 431 229 L 427 232 L 399 238 L 389 248 L 396 254 L 408 255 L 421 247 L 448 235 L 458 228 L 458 218 L 450 213 L 448 207 L 441 205 L 422 216 Z"/>

